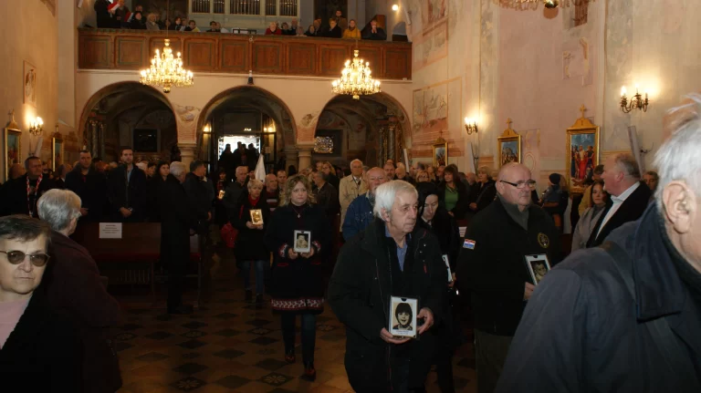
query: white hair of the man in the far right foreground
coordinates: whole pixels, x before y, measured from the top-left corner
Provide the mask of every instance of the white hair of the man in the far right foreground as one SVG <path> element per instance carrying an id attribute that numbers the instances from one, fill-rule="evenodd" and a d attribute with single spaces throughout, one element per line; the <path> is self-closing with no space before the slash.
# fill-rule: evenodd
<path id="1" fill-rule="evenodd" d="M 664 187 L 672 181 L 685 182 L 696 196 L 701 196 L 701 94 L 693 93 L 689 102 L 670 109 L 668 115 L 675 116 L 671 124 L 672 136 L 664 142 L 654 155 L 654 166 L 659 173 L 655 191 L 657 207 L 662 211 Z"/>

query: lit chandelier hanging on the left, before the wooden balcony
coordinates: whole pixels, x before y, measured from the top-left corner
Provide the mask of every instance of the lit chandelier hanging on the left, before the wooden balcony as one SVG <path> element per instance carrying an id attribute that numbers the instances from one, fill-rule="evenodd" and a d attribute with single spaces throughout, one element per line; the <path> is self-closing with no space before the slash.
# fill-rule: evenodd
<path id="1" fill-rule="evenodd" d="M 163 93 L 169 93 L 171 88 L 185 88 L 193 86 L 193 73 L 183 68 L 183 59 L 173 56 L 171 40 L 165 38 L 163 52 L 156 49 L 156 55 L 151 60 L 151 67 L 141 70 L 141 79 L 144 85 L 162 87 Z"/>

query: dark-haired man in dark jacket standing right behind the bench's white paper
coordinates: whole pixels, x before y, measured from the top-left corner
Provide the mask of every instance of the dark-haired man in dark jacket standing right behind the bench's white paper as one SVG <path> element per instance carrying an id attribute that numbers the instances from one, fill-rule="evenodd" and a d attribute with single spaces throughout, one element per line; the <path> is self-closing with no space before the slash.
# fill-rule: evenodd
<path id="1" fill-rule="evenodd" d="M 146 174 L 134 166 L 134 150 L 120 149 L 121 165 L 110 171 L 107 195 L 115 222 L 141 222 L 146 217 Z"/>

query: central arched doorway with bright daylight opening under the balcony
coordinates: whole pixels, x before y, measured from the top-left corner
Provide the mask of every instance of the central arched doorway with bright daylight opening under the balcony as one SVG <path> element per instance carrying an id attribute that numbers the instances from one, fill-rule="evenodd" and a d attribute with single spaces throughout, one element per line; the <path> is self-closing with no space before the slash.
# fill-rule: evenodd
<path id="1" fill-rule="evenodd" d="M 239 153 L 235 160 L 221 163 L 230 176 L 238 165 L 255 168 L 256 161 L 251 158 L 257 159 L 261 154 L 267 172 L 278 165 L 287 168 L 289 162 L 297 160 L 296 155 L 286 157 L 294 155 L 290 148 L 296 143 L 295 124 L 288 106 L 266 89 L 255 86 L 227 89 L 202 109 L 197 124 L 200 156 L 210 162 L 214 171 L 220 166 L 219 158 L 226 144 L 234 151 L 238 143 L 243 143 L 248 149 L 245 160 Z"/>

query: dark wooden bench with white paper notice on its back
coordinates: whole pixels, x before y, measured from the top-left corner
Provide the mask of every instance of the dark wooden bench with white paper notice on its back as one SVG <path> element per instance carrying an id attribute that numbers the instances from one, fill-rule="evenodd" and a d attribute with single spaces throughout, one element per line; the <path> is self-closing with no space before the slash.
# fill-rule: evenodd
<path id="1" fill-rule="evenodd" d="M 88 249 L 100 266 L 110 272 L 110 284 L 150 284 L 155 296 L 154 265 L 161 259 L 161 223 L 122 223 L 121 239 L 100 239 L 99 222 L 78 225 L 72 238 Z M 190 236 L 190 261 L 197 264 L 197 301 L 202 289 L 202 253 L 198 235 Z M 143 269 L 144 265 L 148 265 Z M 106 275 L 106 274 L 105 274 Z M 193 274 L 186 275 L 193 277 Z"/>

